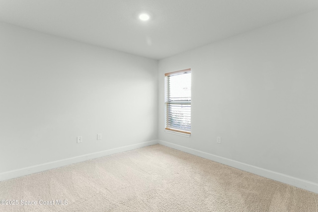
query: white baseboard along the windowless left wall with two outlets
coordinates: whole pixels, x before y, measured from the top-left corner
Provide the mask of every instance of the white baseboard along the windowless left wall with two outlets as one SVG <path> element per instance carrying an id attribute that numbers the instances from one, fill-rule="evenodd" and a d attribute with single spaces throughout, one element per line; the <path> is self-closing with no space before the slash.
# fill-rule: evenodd
<path id="1" fill-rule="evenodd" d="M 136 148 L 141 148 L 144 146 L 149 146 L 149 145 L 153 145 L 153 144 L 157 144 L 157 143 L 158 143 L 158 140 L 136 143 L 136 144 L 132 144 L 132 145 L 128 145 L 128 146 L 122 146 L 122 147 L 108 149 L 108 150 L 99 151 L 99 152 L 94 152 L 94 153 L 90 153 L 90 154 L 84 154 L 84 155 L 80 155 L 77 157 L 71 157 L 71 158 L 67 158 L 67 159 L 63 159 L 63 160 L 57 160 L 57 161 L 53 161 L 53 162 L 49 162 L 49 163 L 43 163 L 43 164 L 39 164 L 39 165 L 35 165 L 35 166 L 29 166 L 26 168 L 2 172 L 2 173 L 0 173 L 0 181 L 9 180 L 9 179 L 21 177 L 24 175 L 34 174 L 37 172 L 46 171 L 49 169 L 58 168 L 58 167 L 70 165 L 73 163 L 82 162 L 85 160 L 95 159 L 95 158 L 107 156 L 110 154 L 129 151 L 129 150 L 133 150 Z"/>

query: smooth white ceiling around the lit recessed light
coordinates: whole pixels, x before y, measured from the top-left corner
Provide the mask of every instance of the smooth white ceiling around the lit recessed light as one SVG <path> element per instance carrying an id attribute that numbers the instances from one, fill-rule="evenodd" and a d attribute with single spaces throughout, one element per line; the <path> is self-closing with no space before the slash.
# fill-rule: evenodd
<path id="1" fill-rule="evenodd" d="M 315 9 L 318 0 L 0 0 L 0 21 L 159 60 Z"/>

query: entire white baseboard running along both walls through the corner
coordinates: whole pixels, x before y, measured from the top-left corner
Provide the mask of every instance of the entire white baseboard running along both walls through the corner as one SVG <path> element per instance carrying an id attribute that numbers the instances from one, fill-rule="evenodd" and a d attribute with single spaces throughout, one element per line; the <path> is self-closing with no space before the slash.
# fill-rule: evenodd
<path id="1" fill-rule="evenodd" d="M 49 163 L 43 163 L 43 164 L 39 164 L 39 165 L 35 165 L 35 166 L 29 166 L 29 167 L 22 168 L 22 169 L 16 169 L 16 170 L 8 171 L 8 172 L 2 172 L 2 173 L 0 173 L 0 181 L 9 180 L 9 179 L 13 179 L 16 177 L 21 177 L 24 175 L 29 175 L 29 174 L 33 174 L 33 173 L 37 173 L 37 172 L 41 172 L 41 171 L 46 171 L 49 169 L 58 168 L 58 167 L 70 165 L 73 163 L 82 162 L 82 161 L 89 160 L 89 159 L 95 159 L 98 157 L 103 157 L 103 156 L 107 156 L 107 155 L 111 155 L 111 154 L 115 154 L 115 153 L 129 151 L 129 150 L 141 148 L 144 146 L 154 145 L 157 143 L 174 148 L 174 149 L 178 149 L 180 151 L 184 151 L 184 152 L 187 152 L 187 153 L 190 153 L 193 155 L 197 155 L 199 157 L 213 160 L 213 161 L 225 164 L 225 165 L 229 165 L 229 166 L 232 166 L 234 168 L 238 168 L 238 169 L 243 170 L 243 171 L 247 171 L 247 172 L 257 174 L 257 175 L 260 175 L 260 176 L 263 176 L 263 177 L 266 177 L 266 178 L 269 178 L 272 180 L 276 180 L 276 181 L 279 181 L 282 183 L 286 183 L 286 184 L 289 184 L 289 185 L 292 185 L 292 186 L 295 186 L 295 187 L 298 187 L 301 189 L 305 189 L 305 190 L 308 190 L 311 192 L 318 193 L 318 184 L 317 183 L 310 182 L 310 181 L 303 180 L 303 179 L 299 179 L 299 178 L 295 178 L 295 177 L 288 176 L 288 175 L 285 175 L 282 173 L 278 173 L 278 172 L 270 171 L 267 169 L 259 168 L 256 166 L 248 165 L 246 163 L 241 163 L 241 162 L 236 161 L 236 160 L 231 160 L 231 159 L 228 159 L 225 157 L 220 157 L 220 156 L 210 154 L 207 152 L 203 152 L 200 150 L 196 150 L 196 149 L 192 149 L 192 148 L 188 148 L 188 147 L 181 146 L 178 144 L 174 144 L 174 143 L 170 143 L 170 142 L 166 142 L 166 141 L 160 141 L 160 140 L 132 144 L 132 145 L 128 145 L 128 146 L 108 149 L 108 150 L 94 152 L 94 153 L 90 153 L 90 154 L 84 154 L 84 155 L 80 155 L 77 157 L 71 157 L 71 158 L 67 158 L 67 159 L 63 159 L 63 160 L 57 160 L 57 161 L 53 161 L 53 162 L 49 162 Z"/>

